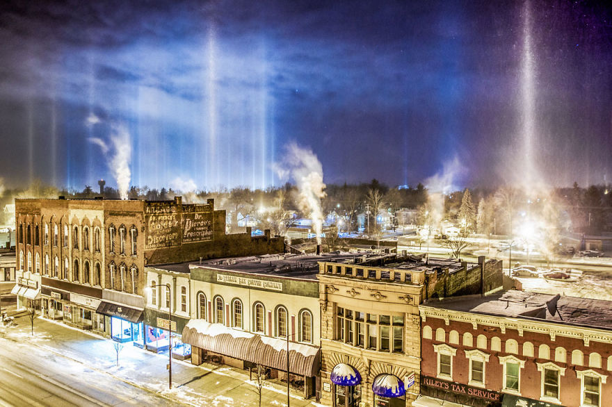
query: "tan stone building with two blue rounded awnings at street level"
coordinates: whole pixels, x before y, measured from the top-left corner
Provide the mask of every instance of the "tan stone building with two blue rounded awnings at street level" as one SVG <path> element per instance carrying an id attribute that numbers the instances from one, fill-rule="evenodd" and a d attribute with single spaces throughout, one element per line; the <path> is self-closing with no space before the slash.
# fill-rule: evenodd
<path id="1" fill-rule="evenodd" d="M 419 304 L 501 289 L 501 262 L 397 254 L 321 261 L 321 401 L 409 406 L 419 395 Z"/>

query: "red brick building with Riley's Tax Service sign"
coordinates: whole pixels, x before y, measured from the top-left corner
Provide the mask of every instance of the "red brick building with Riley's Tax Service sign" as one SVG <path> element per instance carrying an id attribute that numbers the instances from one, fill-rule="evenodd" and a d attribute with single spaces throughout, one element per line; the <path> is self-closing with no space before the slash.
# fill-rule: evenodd
<path id="1" fill-rule="evenodd" d="M 430 301 L 414 406 L 609 406 L 612 301 L 510 290 Z"/>

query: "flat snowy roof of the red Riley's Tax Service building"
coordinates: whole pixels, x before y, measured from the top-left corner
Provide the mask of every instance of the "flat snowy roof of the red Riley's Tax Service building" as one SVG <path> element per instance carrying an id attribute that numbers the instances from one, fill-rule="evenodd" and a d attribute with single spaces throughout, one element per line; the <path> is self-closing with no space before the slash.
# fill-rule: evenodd
<path id="1" fill-rule="evenodd" d="M 458 297 L 428 301 L 423 305 L 468 313 L 612 329 L 612 301 L 602 299 L 509 290 L 490 297 Z"/>

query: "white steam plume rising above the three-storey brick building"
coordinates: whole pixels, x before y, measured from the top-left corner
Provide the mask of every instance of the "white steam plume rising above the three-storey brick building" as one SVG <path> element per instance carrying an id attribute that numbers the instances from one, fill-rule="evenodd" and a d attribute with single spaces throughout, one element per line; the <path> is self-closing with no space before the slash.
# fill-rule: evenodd
<path id="1" fill-rule="evenodd" d="M 127 199 L 129 191 L 129 181 L 131 179 L 131 138 L 127 128 L 123 125 L 112 127 L 111 142 L 107 143 L 101 138 L 90 137 L 88 140 L 102 149 L 102 153 L 108 160 L 108 167 L 111 169 L 113 178 L 117 183 L 119 197 Z"/>

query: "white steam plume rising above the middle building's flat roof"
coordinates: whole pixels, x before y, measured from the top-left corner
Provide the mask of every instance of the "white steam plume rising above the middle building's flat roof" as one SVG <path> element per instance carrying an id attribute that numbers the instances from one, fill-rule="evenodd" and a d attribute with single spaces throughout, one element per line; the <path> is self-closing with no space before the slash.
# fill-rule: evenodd
<path id="1" fill-rule="evenodd" d="M 323 226 L 323 210 L 321 198 L 325 197 L 323 183 L 323 166 L 311 149 L 298 146 L 291 142 L 285 147 L 282 163 L 275 164 L 275 170 L 280 178 L 293 178 L 299 192 L 298 206 L 303 213 L 309 214 L 316 233 L 316 243 L 321 244 Z"/>

